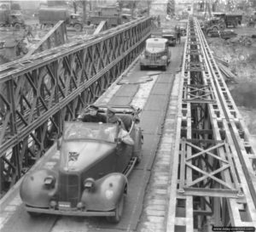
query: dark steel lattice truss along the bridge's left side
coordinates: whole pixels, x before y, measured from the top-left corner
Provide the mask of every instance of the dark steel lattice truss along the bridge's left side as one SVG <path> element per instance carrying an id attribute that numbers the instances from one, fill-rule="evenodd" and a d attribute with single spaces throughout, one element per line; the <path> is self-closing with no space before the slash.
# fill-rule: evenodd
<path id="1" fill-rule="evenodd" d="M 150 18 L 0 66 L 1 178 L 14 184 L 143 51 Z M 1 182 L 3 184 L 3 182 Z"/>

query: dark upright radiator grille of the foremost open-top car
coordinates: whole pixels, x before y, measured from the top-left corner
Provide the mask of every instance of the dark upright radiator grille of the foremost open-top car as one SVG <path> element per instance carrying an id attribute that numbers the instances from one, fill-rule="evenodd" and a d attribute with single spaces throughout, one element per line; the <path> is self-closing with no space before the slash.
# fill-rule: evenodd
<path id="1" fill-rule="evenodd" d="M 79 201 L 79 195 L 79 176 L 69 173 L 61 173 L 59 183 L 59 201 L 71 202 L 71 207 L 76 207 Z"/>

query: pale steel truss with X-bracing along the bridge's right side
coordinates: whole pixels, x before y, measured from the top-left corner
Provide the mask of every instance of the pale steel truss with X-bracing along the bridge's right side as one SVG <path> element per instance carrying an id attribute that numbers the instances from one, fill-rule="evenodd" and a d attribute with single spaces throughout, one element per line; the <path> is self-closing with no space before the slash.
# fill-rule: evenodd
<path id="1" fill-rule="evenodd" d="M 187 34 L 166 231 L 256 227 L 256 156 L 247 128 L 196 19 Z"/>

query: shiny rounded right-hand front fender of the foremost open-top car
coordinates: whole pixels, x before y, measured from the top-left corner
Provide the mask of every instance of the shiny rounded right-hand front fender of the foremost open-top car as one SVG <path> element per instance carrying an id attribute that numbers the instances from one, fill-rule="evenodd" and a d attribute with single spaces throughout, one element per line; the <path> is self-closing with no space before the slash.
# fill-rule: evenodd
<path id="1" fill-rule="evenodd" d="M 93 188 L 85 189 L 81 201 L 85 210 L 110 211 L 115 209 L 126 193 L 128 180 L 122 173 L 110 173 L 95 181 Z"/>

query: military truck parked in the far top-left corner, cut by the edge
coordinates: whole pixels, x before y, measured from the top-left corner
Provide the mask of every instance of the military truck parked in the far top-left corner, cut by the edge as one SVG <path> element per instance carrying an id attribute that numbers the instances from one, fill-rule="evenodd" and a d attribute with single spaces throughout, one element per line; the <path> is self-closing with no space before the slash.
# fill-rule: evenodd
<path id="1" fill-rule="evenodd" d="M 20 10 L 0 9 L 0 26 L 13 26 L 15 30 L 25 26 Z"/>

